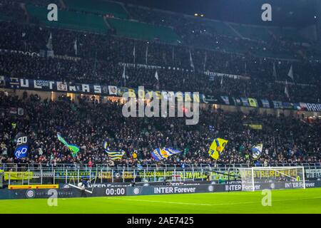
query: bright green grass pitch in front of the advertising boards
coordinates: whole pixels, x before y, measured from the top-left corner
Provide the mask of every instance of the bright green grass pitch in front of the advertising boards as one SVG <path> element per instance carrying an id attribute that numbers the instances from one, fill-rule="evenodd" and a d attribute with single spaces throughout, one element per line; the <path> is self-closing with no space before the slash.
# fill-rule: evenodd
<path id="1" fill-rule="evenodd" d="M 321 213 L 321 188 L 123 197 L 4 199 L 1 213 Z"/>

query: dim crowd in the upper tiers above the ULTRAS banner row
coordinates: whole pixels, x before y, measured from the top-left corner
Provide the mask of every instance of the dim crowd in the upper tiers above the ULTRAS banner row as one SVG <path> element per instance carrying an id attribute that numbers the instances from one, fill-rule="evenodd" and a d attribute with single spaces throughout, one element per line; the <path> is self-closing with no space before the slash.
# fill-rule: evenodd
<path id="1" fill-rule="evenodd" d="M 292 63 L 295 83 L 310 86 L 289 85 L 290 99 L 285 95 L 285 85 L 277 81 L 289 81 L 287 76 L 291 64 L 267 58 L 240 56 L 219 51 L 193 49 L 194 69 L 190 66 L 189 49 L 185 46 L 168 46 L 160 43 L 146 43 L 114 36 L 21 26 L 0 22 L 0 48 L 38 53 L 46 48 L 50 33 L 55 54 L 79 57 L 45 58 L 22 53 L 0 53 L 0 74 L 6 76 L 61 80 L 66 82 L 101 83 L 113 86 L 145 86 L 149 89 L 198 91 L 207 95 L 233 95 L 292 102 L 320 102 L 320 63 Z M 77 39 L 77 56 L 74 41 Z M 118 63 L 161 66 L 156 81 L 155 69 L 126 68 L 126 84 L 123 81 L 123 67 Z M 133 49 L 135 47 L 135 59 Z M 205 57 L 206 56 L 206 57 Z M 277 73 L 273 76 L 273 65 Z M 175 70 L 173 68 L 175 67 Z M 170 69 L 169 69 L 170 68 Z M 248 76 L 250 80 L 235 80 L 223 77 L 211 78 L 204 71 Z M 312 85 L 312 86 L 311 86 Z"/>

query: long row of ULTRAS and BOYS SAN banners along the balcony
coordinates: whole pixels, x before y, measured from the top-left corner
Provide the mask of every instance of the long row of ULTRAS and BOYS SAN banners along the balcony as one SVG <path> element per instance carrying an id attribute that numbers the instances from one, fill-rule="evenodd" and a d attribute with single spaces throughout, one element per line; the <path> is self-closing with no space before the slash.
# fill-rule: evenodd
<path id="1" fill-rule="evenodd" d="M 221 75 L 217 75 L 221 76 Z M 96 94 L 96 95 L 115 95 L 122 96 L 125 92 L 133 92 L 130 93 L 132 95 L 138 95 L 138 88 L 126 88 L 117 86 L 108 86 L 108 85 L 98 85 L 98 84 L 88 84 L 88 83 L 65 83 L 59 81 L 46 81 L 46 80 L 34 80 L 34 79 L 24 79 L 24 78 L 15 78 L 8 76 L 0 76 L 0 81 L 3 82 L 1 85 L 4 88 L 14 88 L 21 90 L 41 90 L 41 91 L 56 91 L 63 93 L 81 93 L 81 94 Z M 165 90 L 156 90 L 154 91 L 159 95 L 159 98 L 162 96 L 168 98 L 170 100 L 172 96 L 175 95 L 178 99 L 191 98 L 191 101 L 197 101 L 202 103 L 211 103 L 211 104 L 225 104 L 231 105 L 228 96 L 215 96 L 215 95 L 205 95 L 200 93 L 196 95 L 193 92 L 180 92 L 180 91 L 165 91 Z M 144 94 L 148 93 L 148 90 L 143 91 Z M 190 94 L 190 95 L 188 95 Z M 234 105 L 243 105 L 243 106 L 251 106 L 258 107 L 258 100 L 255 98 L 231 98 L 233 100 Z M 256 102 L 255 102 L 256 101 Z M 273 107 L 268 103 L 267 99 L 261 99 L 263 108 L 289 108 L 294 110 L 307 110 L 313 112 L 321 111 L 321 104 L 315 103 L 283 103 L 281 101 L 273 101 Z M 261 105 L 260 105 L 261 107 Z"/>

